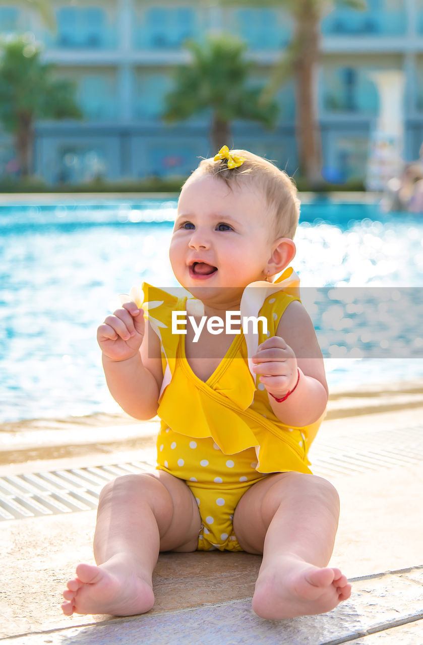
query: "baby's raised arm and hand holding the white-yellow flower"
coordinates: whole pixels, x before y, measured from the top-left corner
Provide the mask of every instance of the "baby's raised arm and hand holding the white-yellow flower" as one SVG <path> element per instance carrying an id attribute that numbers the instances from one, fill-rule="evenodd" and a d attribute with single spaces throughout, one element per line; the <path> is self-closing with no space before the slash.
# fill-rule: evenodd
<path id="1" fill-rule="evenodd" d="M 163 379 L 160 342 L 143 311 L 125 303 L 99 326 L 97 339 L 112 397 L 136 419 L 154 417 Z"/>

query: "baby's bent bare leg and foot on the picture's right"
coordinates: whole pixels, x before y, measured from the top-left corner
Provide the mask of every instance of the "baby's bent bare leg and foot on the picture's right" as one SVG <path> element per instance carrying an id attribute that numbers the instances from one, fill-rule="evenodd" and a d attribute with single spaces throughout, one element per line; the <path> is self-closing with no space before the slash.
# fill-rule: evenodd
<path id="1" fill-rule="evenodd" d="M 245 551 L 263 553 L 253 597 L 259 616 L 324 613 L 349 598 L 346 577 L 327 567 L 338 515 L 338 493 L 315 475 L 278 473 L 243 495 L 234 531 Z"/>

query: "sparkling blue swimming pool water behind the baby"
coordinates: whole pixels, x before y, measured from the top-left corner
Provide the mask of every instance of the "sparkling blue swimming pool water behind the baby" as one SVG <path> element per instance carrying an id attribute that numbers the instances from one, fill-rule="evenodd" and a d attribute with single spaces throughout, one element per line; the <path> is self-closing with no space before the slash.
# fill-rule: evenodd
<path id="1" fill-rule="evenodd" d="M 117 409 L 96 328 L 133 284 L 176 285 L 167 258 L 175 208 L 173 199 L 0 206 L 0 422 Z M 422 377 L 423 217 L 320 201 L 302 206 L 300 222 L 293 266 L 329 385 Z M 335 289 L 323 301 L 322 287 Z M 340 304 L 346 287 L 354 290 Z M 371 293 L 365 309 L 377 310 L 376 332 L 360 317 L 362 293 Z M 407 323 L 396 352 L 384 338 L 379 352 L 362 352 L 363 343 L 374 348 L 371 333 L 393 301 Z"/>

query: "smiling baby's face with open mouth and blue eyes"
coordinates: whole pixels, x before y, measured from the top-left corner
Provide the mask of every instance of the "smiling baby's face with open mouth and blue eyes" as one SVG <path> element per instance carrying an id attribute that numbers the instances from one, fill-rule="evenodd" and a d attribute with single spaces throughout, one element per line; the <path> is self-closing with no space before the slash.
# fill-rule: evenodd
<path id="1" fill-rule="evenodd" d="M 273 244 L 268 210 L 254 186 L 229 188 L 212 175 L 191 179 L 181 191 L 170 242 L 179 283 L 201 300 L 231 287 L 232 301 L 247 284 L 265 279 Z"/>

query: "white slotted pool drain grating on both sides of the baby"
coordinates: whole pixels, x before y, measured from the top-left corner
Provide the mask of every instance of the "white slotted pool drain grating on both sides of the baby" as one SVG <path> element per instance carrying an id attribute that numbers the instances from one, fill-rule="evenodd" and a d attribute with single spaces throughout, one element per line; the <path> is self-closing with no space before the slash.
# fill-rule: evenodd
<path id="1" fill-rule="evenodd" d="M 0 477 L 0 521 L 94 509 L 106 482 L 152 470 L 153 453 L 146 451 L 143 462 Z M 423 426 L 318 438 L 310 458 L 313 472 L 324 477 L 416 464 L 423 461 Z"/>

